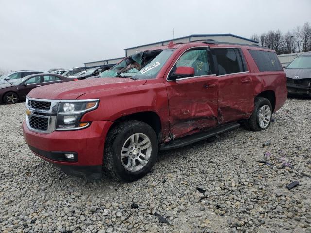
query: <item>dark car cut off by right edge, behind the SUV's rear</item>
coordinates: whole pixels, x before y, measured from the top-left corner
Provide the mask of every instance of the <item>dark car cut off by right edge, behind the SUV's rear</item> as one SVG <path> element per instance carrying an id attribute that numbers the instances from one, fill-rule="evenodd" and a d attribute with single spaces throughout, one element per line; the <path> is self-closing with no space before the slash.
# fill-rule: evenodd
<path id="1" fill-rule="evenodd" d="M 285 67 L 289 94 L 311 97 L 311 51 L 297 56 Z"/>

